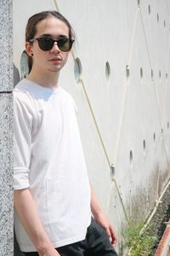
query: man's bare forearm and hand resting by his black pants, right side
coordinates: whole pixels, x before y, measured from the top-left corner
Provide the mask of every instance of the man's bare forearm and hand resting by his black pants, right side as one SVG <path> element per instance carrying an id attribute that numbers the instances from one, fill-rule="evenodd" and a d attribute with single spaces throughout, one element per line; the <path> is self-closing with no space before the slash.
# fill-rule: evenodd
<path id="1" fill-rule="evenodd" d="M 113 229 L 111 223 L 109 222 L 108 218 L 105 215 L 105 212 L 103 211 L 102 207 L 99 204 L 99 200 L 97 196 L 94 193 L 94 189 L 91 187 L 91 211 L 94 215 L 94 218 L 98 224 L 100 224 L 105 231 L 107 232 L 110 241 L 113 245 L 116 245 L 117 238 L 116 238 L 116 232 Z"/>

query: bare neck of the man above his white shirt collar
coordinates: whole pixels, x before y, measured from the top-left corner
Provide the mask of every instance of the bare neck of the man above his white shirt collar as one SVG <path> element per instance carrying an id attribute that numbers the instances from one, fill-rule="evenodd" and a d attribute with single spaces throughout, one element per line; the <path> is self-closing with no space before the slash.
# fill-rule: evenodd
<path id="1" fill-rule="evenodd" d="M 40 84 L 45 88 L 57 88 L 59 81 L 59 73 L 46 73 L 46 74 L 38 74 L 31 71 L 26 79 L 31 80 L 34 83 Z"/>

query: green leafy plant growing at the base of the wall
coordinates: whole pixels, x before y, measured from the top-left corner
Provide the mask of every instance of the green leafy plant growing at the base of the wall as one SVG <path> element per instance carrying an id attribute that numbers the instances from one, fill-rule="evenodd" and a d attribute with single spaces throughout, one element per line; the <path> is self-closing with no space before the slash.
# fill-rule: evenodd
<path id="1" fill-rule="evenodd" d="M 156 236 L 153 236 L 151 226 L 148 226 L 144 231 L 144 223 L 130 222 L 126 230 L 123 231 L 125 246 L 129 250 L 130 256 L 149 256 L 151 247 L 153 247 Z"/>

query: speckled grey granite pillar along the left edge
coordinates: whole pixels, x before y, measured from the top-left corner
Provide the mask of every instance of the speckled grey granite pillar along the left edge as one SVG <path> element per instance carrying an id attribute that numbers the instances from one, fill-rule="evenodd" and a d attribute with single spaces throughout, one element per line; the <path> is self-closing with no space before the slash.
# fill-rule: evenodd
<path id="1" fill-rule="evenodd" d="M 0 255 L 13 255 L 12 1 L 0 1 Z"/>

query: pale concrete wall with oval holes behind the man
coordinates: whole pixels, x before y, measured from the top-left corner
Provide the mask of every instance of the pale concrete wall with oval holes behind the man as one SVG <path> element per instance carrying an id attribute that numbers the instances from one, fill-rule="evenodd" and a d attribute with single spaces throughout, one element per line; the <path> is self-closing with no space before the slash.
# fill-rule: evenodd
<path id="1" fill-rule="evenodd" d="M 150 214 L 170 178 L 170 3 L 14 1 L 19 71 L 28 17 L 56 8 L 77 35 L 59 84 L 77 102 L 89 177 L 121 236 L 127 218 Z"/>

